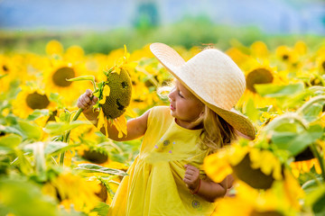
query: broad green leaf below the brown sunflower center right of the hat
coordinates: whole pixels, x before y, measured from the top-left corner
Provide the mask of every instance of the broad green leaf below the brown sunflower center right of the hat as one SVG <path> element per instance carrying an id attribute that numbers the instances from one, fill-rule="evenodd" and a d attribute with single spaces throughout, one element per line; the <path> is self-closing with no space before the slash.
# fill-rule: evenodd
<path id="1" fill-rule="evenodd" d="M 258 84 L 254 86 L 258 94 L 268 97 L 292 96 L 292 94 L 302 92 L 304 88 L 302 83 L 289 85 Z"/>

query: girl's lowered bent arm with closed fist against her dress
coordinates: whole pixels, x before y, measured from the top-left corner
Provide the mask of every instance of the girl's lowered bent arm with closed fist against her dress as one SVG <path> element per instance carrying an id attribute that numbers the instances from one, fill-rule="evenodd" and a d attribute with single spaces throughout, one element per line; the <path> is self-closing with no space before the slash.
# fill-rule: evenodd
<path id="1" fill-rule="evenodd" d="M 224 197 L 228 188 L 233 184 L 232 175 L 228 175 L 221 183 L 212 180 L 200 179 L 200 170 L 195 166 L 185 165 L 184 183 L 191 193 L 196 193 L 209 202 L 215 202 L 219 197 Z"/>

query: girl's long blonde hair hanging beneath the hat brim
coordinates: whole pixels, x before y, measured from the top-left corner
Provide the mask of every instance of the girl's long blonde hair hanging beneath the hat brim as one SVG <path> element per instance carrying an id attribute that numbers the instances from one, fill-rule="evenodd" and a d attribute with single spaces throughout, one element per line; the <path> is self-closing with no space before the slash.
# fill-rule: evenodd
<path id="1" fill-rule="evenodd" d="M 208 149 L 209 154 L 236 139 L 235 129 L 216 112 L 209 109 L 207 105 L 205 105 L 204 113 L 199 119 L 203 124 L 203 130 L 200 133 L 200 148 Z"/>

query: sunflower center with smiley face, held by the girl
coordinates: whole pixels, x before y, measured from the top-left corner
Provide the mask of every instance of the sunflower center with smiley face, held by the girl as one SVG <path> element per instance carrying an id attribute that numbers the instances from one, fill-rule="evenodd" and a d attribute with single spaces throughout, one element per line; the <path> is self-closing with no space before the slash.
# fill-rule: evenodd
<path id="1" fill-rule="evenodd" d="M 107 76 L 107 84 L 110 94 L 102 105 L 104 115 L 109 119 L 121 116 L 131 100 L 132 83 L 125 69 L 120 74 L 110 73 Z"/>

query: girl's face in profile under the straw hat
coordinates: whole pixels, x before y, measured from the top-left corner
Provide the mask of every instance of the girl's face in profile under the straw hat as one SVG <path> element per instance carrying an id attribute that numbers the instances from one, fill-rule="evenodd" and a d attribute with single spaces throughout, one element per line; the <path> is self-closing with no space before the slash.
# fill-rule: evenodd
<path id="1" fill-rule="evenodd" d="M 200 117 L 204 104 L 178 80 L 168 97 L 171 103 L 171 114 L 176 122 L 183 128 L 194 129 L 196 125 L 192 122 Z"/>

